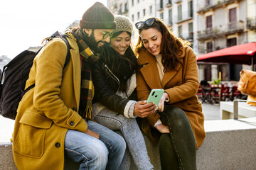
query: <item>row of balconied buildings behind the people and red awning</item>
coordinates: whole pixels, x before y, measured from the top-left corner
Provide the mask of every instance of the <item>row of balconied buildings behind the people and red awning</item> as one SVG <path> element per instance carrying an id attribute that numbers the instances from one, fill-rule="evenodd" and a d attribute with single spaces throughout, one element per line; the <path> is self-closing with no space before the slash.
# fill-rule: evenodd
<path id="1" fill-rule="evenodd" d="M 174 35 L 191 42 L 196 55 L 256 41 L 255 0 L 108 0 L 107 6 L 132 23 L 161 18 Z M 133 45 L 138 36 L 134 29 Z M 238 81 L 241 69 L 252 66 L 198 62 L 199 81 Z"/>

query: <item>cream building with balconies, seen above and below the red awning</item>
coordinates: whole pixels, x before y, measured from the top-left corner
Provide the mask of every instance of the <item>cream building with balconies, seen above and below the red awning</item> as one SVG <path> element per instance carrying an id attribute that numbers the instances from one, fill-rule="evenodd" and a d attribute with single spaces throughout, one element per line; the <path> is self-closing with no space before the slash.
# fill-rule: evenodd
<path id="1" fill-rule="evenodd" d="M 198 55 L 249 42 L 247 1 L 204 0 L 198 4 L 197 13 Z M 201 80 L 238 81 L 241 69 L 250 68 L 242 64 L 198 63 L 198 69 Z"/>

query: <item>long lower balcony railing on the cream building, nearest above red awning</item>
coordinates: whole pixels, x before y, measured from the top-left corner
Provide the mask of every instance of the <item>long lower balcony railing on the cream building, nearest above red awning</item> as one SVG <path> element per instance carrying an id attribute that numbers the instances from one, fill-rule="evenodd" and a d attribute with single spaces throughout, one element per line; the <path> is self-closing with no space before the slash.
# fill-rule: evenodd
<path id="1" fill-rule="evenodd" d="M 226 26 L 217 26 L 215 28 L 206 28 L 198 31 L 198 40 L 207 40 L 209 38 L 218 38 L 223 35 L 241 33 L 245 29 L 243 21 L 228 23 Z"/>

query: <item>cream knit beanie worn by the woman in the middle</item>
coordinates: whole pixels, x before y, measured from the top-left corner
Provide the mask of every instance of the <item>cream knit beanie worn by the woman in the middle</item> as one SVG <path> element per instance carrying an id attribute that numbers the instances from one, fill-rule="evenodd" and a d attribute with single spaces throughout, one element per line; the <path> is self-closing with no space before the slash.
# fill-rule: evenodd
<path id="1" fill-rule="evenodd" d="M 114 29 L 112 35 L 119 31 L 127 31 L 132 34 L 132 22 L 126 16 L 114 16 L 114 21 L 117 23 L 117 28 Z"/>

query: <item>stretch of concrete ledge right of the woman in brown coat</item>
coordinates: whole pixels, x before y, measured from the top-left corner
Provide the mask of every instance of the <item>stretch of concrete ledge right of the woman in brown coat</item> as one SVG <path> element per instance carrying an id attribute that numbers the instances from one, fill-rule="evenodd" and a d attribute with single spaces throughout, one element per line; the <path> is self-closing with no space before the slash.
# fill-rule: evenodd
<path id="1" fill-rule="evenodd" d="M 197 152 L 198 169 L 255 169 L 256 118 L 208 120 L 205 128 L 206 140 Z"/>

